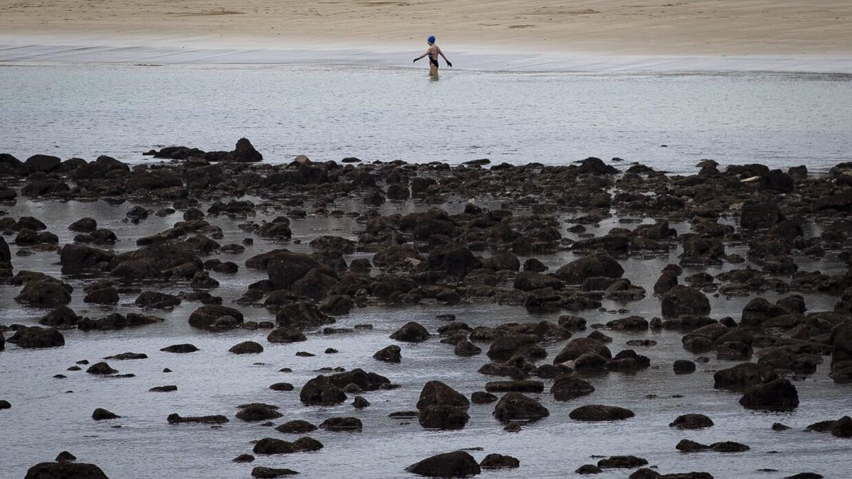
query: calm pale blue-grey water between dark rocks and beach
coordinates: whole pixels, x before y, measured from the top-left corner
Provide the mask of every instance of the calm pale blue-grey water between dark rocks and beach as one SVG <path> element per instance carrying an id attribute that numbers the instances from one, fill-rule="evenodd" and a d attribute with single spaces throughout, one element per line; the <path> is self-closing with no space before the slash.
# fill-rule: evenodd
<path id="1" fill-rule="evenodd" d="M 705 158 L 811 170 L 852 159 L 849 75 L 445 70 L 435 82 L 371 66 L 7 64 L 0 152 L 138 162 L 152 147 L 246 136 L 273 162 L 597 156 L 687 172 Z"/>

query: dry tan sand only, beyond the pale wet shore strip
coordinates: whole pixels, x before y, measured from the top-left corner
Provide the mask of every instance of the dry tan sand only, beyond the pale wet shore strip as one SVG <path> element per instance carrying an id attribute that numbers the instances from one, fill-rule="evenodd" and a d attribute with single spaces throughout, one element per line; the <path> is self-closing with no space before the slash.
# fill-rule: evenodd
<path id="1" fill-rule="evenodd" d="M 176 48 L 602 55 L 852 55 L 852 3 L 838 0 L 587 0 L 452 3 L 3 0 L 3 43 Z"/>

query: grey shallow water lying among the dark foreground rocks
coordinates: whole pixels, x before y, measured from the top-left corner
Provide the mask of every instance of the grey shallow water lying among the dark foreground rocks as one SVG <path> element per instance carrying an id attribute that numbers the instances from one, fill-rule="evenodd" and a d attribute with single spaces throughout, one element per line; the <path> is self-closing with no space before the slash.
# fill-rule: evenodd
<path id="1" fill-rule="evenodd" d="M 147 205 L 157 207 L 158 205 Z M 337 205 L 343 210 L 357 209 L 358 205 Z M 447 205 L 449 211 L 460 211 L 463 203 Z M 394 211 L 406 212 L 422 206 L 383 205 L 383 214 Z M 123 222 L 129 204 L 111 206 L 105 202 L 28 202 L 19 201 L 9 208 L 13 217 L 34 215 L 51 225 L 50 230 L 60 235 L 60 244 L 72 240 L 72 233 L 64 226 L 80 216 L 92 216 L 105 228 L 112 228 L 120 241 L 117 251 L 135 249 L 135 238 L 169 228 L 179 221 L 179 215 L 159 218 L 151 216 L 140 225 Z M 256 221 L 260 221 L 258 216 Z M 224 218 L 209 218 L 221 226 L 227 244 L 239 242 L 245 234 L 236 228 L 237 222 Z M 564 223 L 564 218 L 561 218 Z M 351 218 L 320 218 L 308 216 L 295 219 L 292 223 L 294 238 L 302 245 L 288 243 L 286 247 L 295 251 L 308 251 L 309 240 L 320 234 L 338 234 L 354 238 L 358 228 Z M 605 222 L 600 229 L 591 233 L 601 234 L 617 226 L 613 221 Z M 684 232 L 688 225 L 676 225 Z M 245 253 L 228 257 L 242 265 L 245 258 L 259 251 L 268 251 L 277 245 L 256 239 Z M 36 252 L 32 256 L 16 255 L 19 248 L 12 245 L 15 271 L 37 269 L 59 275 L 55 252 Z M 625 277 L 651 291 L 659 269 L 666 263 L 675 262 L 679 251 L 647 258 L 622 260 Z M 742 254 L 744 251 L 730 249 Z M 573 259 L 570 252 L 539 257 L 551 268 Z M 348 257 L 347 259 L 351 259 Z M 521 261 L 524 258 L 521 258 Z M 820 269 L 824 272 L 838 271 L 838 261 L 833 254 L 823 260 L 797 258 L 803 270 Z M 740 267 L 743 267 L 740 265 Z M 709 268 L 711 274 L 723 269 Z M 687 270 L 687 274 L 692 270 Z M 241 268 L 239 274 L 213 274 L 222 286 L 212 291 L 222 296 L 225 304 L 239 297 L 252 281 L 263 274 Z M 107 310 L 82 302 L 82 286 L 85 278 L 63 278 L 75 287 L 72 309 L 81 315 L 97 317 Z M 166 286 L 162 291 L 188 291 L 187 286 Z M 22 307 L 12 301 L 18 288 L 0 286 L 0 311 L 3 323 L 19 322 L 35 324 L 45 311 Z M 834 297 L 820 294 L 805 295 L 809 310 L 831 309 Z M 778 296 L 769 293 L 770 300 Z M 118 311 L 135 310 L 132 302 L 135 293 L 124 294 Z M 739 318 L 740 311 L 751 297 L 711 297 L 712 316 L 733 315 Z M 147 477 L 248 477 L 253 465 L 288 467 L 298 470 L 302 477 L 353 477 L 375 478 L 412 477 L 403 469 L 419 459 L 433 453 L 446 452 L 463 447 L 481 447 L 473 451 L 476 459 L 486 453 L 510 454 L 521 460 L 520 470 L 502 472 L 489 471 L 482 477 L 563 477 L 574 476 L 579 465 L 594 463 L 594 454 L 635 454 L 658 465 L 661 472 L 683 472 L 705 470 L 717 478 L 780 478 L 805 470 L 820 472 L 826 477 L 849 476 L 849 440 L 828 434 L 807 433 L 807 424 L 827 418 L 838 418 L 852 412 L 852 386 L 833 384 L 826 377 L 828 365 L 809 378 L 796 383 L 801 405 L 791 413 L 754 412 L 740 407 L 740 395 L 713 389 L 712 372 L 734 364 L 731 361 L 716 361 L 711 355 L 710 363 L 699 365 L 699 371 L 688 376 L 675 376 L 671 362 L 675 359 L 694 359 L 694 355 L 683 350 L 681 336 L 676 332 L 607 332 L 613 336 L 610 344 L 613 354 L 626 349 L 625 341 L 632 338 L 653 338 L 659 342 L 651 348 L 636 348 L 648 355 L 652 368 L 636 374 L 610 373 L 591 378 L 596 387 L 592 395 L 574 401 L 553 401 L 552 395 L 536 395 L 550 409 L 550 417 L 538 423 L 528 424 L 519 433 L 503 430 L 502 424 L 492 418 L 493 405 L 472 406 L 471 419 L 463 430 L 423 430 L 417 420 L 401 424 L 388 418 L 388 414 L 400 410 L 412 410 L 423 384 L 430 379 L 440 379 L 458 389 L 464 395 L 482 390 L 492 377 L 482 376 L 476 370 L 487 358 L 477 355 L 459 358 L 452 354 L 452 346 L 442 344 L 437 338 L 426 343 L 400 343 L 403 360 L 400 365 L 375 361 L 371 355 L 384 346 L 395 343 L 388 336 L 408 320 L 420 321 L 431 332 L 445 324 L 435 315 L 452 312 L 458 320 L 470 326 L 495 326 L 507 321 L 556 320 L 558 314 L 530 315 L 521 307 L 493 304 L 469 304 L 454 307 L 419 305 L 393 309 L 370 307 L 354 309 L 351 315 L 338 318 L 337 326 L 351 327 L 360 323 L 371 323 L 372 331 L 358 331 L 343 335 L 323 336 L 318 332 L 308 333 L 308 342 L 294 344 L 271 344 L 265 340 L 266 332 L 238 330 L 213 334 L 192 330 L 187 325 L 187 316 L 198 306 L 183 303 L 170 313 L 162 315 L 166 320 L 153 326 L 118 332 L 64 332 L 66 346 L 59 349 L 26 350 L 7 344 L 0 352 L 0 398 L 10 401 L 12 409 L 0 412 L 0 430 L 3 445 L 0 447 L 0 476 L 21 477 L 26 468 L 43 460 L 50 460 L 60 450 L 67 449 L 79 460 L 101 465 L 112 478 Z M 625 307 L 630 314 L 648 318 L 659 315 L 659 299 L 648 297 L 634 303 L 606 302 L 607 309 Z M 239 307 L 246 320 L 271 320 L 265 309 Z M 591 323 L 606 322 L 622 315 L 584 311 L 581 313 Z M 587 332 L 579 333 L 585 335 Z M 236 356 L 227 352 L 233 344 L 245 340 L 262 343 L 265 350 L 260 355 Z M 190 355 L 172 355 L 159 349 L 174 343 L 194 343 L 201 350 Z M 554 343 L 547 349 L 549 358 L 561 349 L 564 342 Z M 325 348 L 339 349 L 337 355 L 325 355 Z M 315 357 L 295 356 L 296 351 L 307 350 Z M 125 351 L 146 353 L 149 358 L 141 361 L 109 361 L 119 372 L 132 372 L 135 378 L 97 378 L 86 372 L 67 372 L 66 367 L 75 361 L 88 359 L 95 362 L 107 355 Z M 549 361 L 549 360 L 545 360 Z M 262 362 L 262 365 L 255 365 Z M 278 372 L 281 367 L 291 367 L 293 372 Z M 268 385 L 286 381 L 296 385 L 313 378 L 314 370 L 323 366 L 344 366 L 347 369 L 360 366 L 366 371 L 378 372 L 401 387 L 396 390 L 375 391 L 363 394 L 371 407 L 355 410 L 344 403 L 337 407 L 304 407 L 298 401 L 298 390 L 273 392 Z M 164 373 L 164 367 L 174 372 Z M 52 378 L 63 373 L 66 379 Z M 147 392 L 153 386 L 176 384 L 174 393 Z M 545 381 L 550 388 L 550 381 Z M 67 392 L 73 391 L 73 392 Z M 648 394 L 658 395 L 649 399 Z M 672 395 L 682 395 L 680 398 Z M 240 453 L 250 453 L 250 441 L 271 436 L 294 440 L 298 436 L 281 434 L 272 428 L 257 423 L 244 423 L 233 418 L 236 406 L 245 402 L 262 401 L 281 407 L 285 414 L 276 420 L 281 423 L 291 419 L 306 419 L 318 424 L 333 416 L 355 416 L 364 423 L 360 433 L 326 432 L 310 433 L 320 440 L 325 448 L 316 453 L 295 453 L 279 456 L 258 456 L 251 465 L 233 464 L 231 459 Z M 589 403 L 600 403 L 629 407 L 636 418 L 614 423 L 585 424 L 567 417 L 575 407 Z M 118 420 L 95 422 L 90 418 L 95 407 L 105 407 L 123 416 Z M 169 413 L 181 415 L 222 413 L 231 418 L 222 429 L 210 429 L 205 425 L 166 423 Z M 716 425 L 707 430 L 678 431 L 668 424 L 682 413 L 705 413 Z M 792 430 L 774 432 L 770 425 L 776 421 L 791 425 Z M 112 428 L 120 424 L 120 429 Z M 713 441 L 740 441 L 751 446 L 747 453 L 678 453 L 677 441 L 683 438 L 702 443 Z M 758 472 L 769 468 L 778 472 Z M 625 470 L 610 470 L 597 477 L 605 479 L 625 477 Z"/>

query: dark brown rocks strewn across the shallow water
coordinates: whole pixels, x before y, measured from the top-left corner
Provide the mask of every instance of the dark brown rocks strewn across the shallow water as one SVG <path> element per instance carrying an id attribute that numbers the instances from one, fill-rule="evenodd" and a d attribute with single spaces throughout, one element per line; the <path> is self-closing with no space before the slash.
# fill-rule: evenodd
<path id="1" fill-rule="evenodd" d="M 319 335 L 369 329 L 370 324 L 335 326 L 337 319 L 360 308 L 431 304 L 446 309 L 440 317 L 444 325 L 429 331 L 416 321 L 400 323 L 389 338 L 390 345 L 375 353 L 376 361 L 404 366 L 397 344 L 427 341 L 446 343 L 447 361 L 452 361 L 452 355 L 486 355 L 490 360 L 479 369 L 481 390 L 469 396 L 437 379 L 396 384 L 370 372 L 365 364 L 322 372 L 305 384 L 273 384 L 273 390 L 297 391 L 297 401 L 306 406 L 354 401 L 354 416 L 328 418 L 317 425 L 276 424 L 279 432 L 297 435 L 318 428 L 361 430 L 364 424 L 357 412 L 370 406 L 366 392 L 381 394 L 399 387 L 422 388 L 416 406 L 396 406 L 400 418 L 417 419 L 424 429 L 463 429 L 471 407 L 493 404 L 497 424 L 520 431 L 534 421 L 567 420 L 551 417 L 537 400 L 541 395 L 553 395 L 556 401 L 594 397 L 596 378 L 601 375 L 636 374 L 649 368 L 690 380 L 696 362 L 706 359 L 700 355 L 741 361 L 713 375 L 713 387 L 739 395 L 739 404 L 732 396 L 730 407 L 795 409 L 799 406 L 797 384 L 826 358 L 829 376 L 838 387 L 852 383 L 852 249 L 848 240 L 852 162 L 838 164 L 821 176 L 809 175 L 805 166 L 787 171 L 760 164 L 721 169 L 712 160 L 701 161 L 691 176 L 670 176 L 642 164 L 594 158 L 565 166 L 492 165 L 487 160 L 458 166 L 366 163 L 354 158 L 314 163 L 306 157 L 267 164 L 245 138 L 230 152 L 166 147 L 146 154 L 163 161 L 131 167 L 108 157 L 87 162 L 35 155 L 20 161 L 0 154 L 0 230 L 9 238 L 0 236 L 0 278 L 20 287 L 16 303 L 42 310 L 39 326 L 0 327 L 0 351 L 61 347 L 74 328 L 144 328 L 164 321 L 158 312 L 192 303 L 187 322 L 199 332 L 268 330 L 266 343 L 243 341 L 231 349 L 234 355 L 252 355 L 271 344 L 310 343 Z M 55 224 L 33 216 L 7 215 L 3 210 L 19 199 L 105 200 L 131 223 L 146 222 L 149 216 L 181 215 L 182 221 L 136 237 L 135 249 L 115 251 L 113 245 L 124 239 L 99 228 L 95 218 L 68 218 L 67 224 Z M 448 201 L 463 201 L 462 211 L 448 211 Z M 343 202 L 358 208 L 345 211 L 338 207 Z M 382 205 L 409 203 L 423 208 L 407 214 L 379 211 Z M 258 222 L 256 216 L 269 219 Z M 307 217 L 348 217 L 360 229 L 317 236 L 309 242 L 311 253 L 291 251 L 288 245 L 300 241 L 294 239 L 296 222 Z M 222 244 L 226 235 L 214 219 L 233 223 L 245 234 L 242 240 Z M 618 226 L 605 234 L 588 233 L 601 222 L 613 220 Z M 688 229 L 675 228 L 676 224 Z M 74 232 L 72 242 L 60 245 L 55 233 L 60 228 Z M 242 264 L 229 259 L 256 240 L 271 246 L 252 250 L 255 254 Z M 15 267 L 16 257 L 50 251 L 59 257 L 58 277 Z M 562 251 L 578 257 L 556 268 L 538 258 Z M 651 257 L 674 261 L 659 271 L 648 288 L 638 284 L 625 264 Z M 805 270 L 799 266 L 803 258 L 827 259 L 845 272 Z M 722 265 L 727 267 L 723 273 L 708 273 Z M 262 279 L 251 282 L 241 297 L 224 301 L 216 294 L 219 281 L 244 270 Z M 187 291 L 170 294 L 160 291 L 163 286 Z M 780 298 L 770 302 L 762 297 L 766 293 Z M 812 293 L 835 298 L 834 308 L 809 309 L 804 295 Z M 754 297 L 738 317 L 713 315 L 711 298 L 743 296 Z M 82 316 L 67 306 L 73 297 L 104 308 L 130 299 L 136 310 Z M 648 297 L 659 298 L 659 314 L 630 315 L 630 303 Z M 596 320 L 609 302 L 621 305 L 613 311 L 619 317 Z M 507 318 L 504 324 L 490 327 L 455 316 L 462 305 L 489 303 L 531 314 L 556 314 L 558 320 L 518 323 Z M 250 309 L 267 311 L 268 320 L 246 320 Z M 631 349 L 619 350 L 611 349 L 612 338 L 607 336 L 607 332 L 660 330 L 681 335 L 685 358 L 699 357 L 652 364 L 637 350 L 653 346 L 653 339 L 636 338 L 628 343 Z M 554 346 L 556 354 L 550 355 L 546 349 Z M 182 343 L 162 350 L 187 354 L 196 348 Z M 133 374 L 119 374 L 109 363 L 145 357 L 145 353 L 124 353 L 69 370 L 132 378 Z M 158 386 L 155 392 L 180 387 Z M 0 404 L 14 411 L 14 404 Z M 267 424 L 281 418 L 278 409 L 266 403 L 244 404 L 234 418 Z M 402 414 L 406 411 L 407 415 Z M 0 414 L 5 413 L 9 411 Z M 211 413 L 215 414 L 176 412 L 163 420 L 214 427 L 230 420 Z M 628 421 L 634 416 L 630 409 L 613 404 L 588 404 L 567 415 L 573 421 Z M 93 418 L 119 416 L 99 408 Z M 712 419 L 700 413 L 680 415 L 671 424 L 684 430 L 712 426 Z M 808 429 L 830 433 L 840 441 L 852 436 L 852 420 L 826 418 Z M 266 437 L 256 442 L 252 453 L 298 453 L 321 447 L 310 436 L 295 441 Z M 675 449 L 734 453 L 749 446 L 683 440 L 672 445 L 672 453 Z M 511 451 L 488 451 L 481 461 L 465 451 L 412 458 L 408 470 L 422 476 L 471 476 L 507 467 L 523 470 L 524 465 L 507 453 Z M 27 477 L 105 476 L 95 465 L 62 455 L 57 459 L 33 466 Z M 244 453 L 234 461 L 238 459 L 250 462 L 254 456 Z M 596 464 L 577 464 L 571 470 L 586 474 L 623 468 L 633 470 L 633 478 L 711 477 L 701 472 L 663 475 L 647 465 L 641 457 L 619 455 Z M 107 461 L 101 466 L 108 472 Z M 258 466 L 250 473 L 277 477 L 295 471 Z M 797 477 L 818 476 L 810 474 Z"/>

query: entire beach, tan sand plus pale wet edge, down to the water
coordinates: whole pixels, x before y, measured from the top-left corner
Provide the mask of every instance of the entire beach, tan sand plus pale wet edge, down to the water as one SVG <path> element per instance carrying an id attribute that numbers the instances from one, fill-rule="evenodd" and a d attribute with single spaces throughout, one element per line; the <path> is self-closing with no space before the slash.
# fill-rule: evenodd
<path id="1" fill-rule="evenodd" d="M 576 6 L 25 0 L 0 4 L 0 13 L 4 47 L 31 47 L 29 54 L 46 49 L 50 55 L 41 60 L 51 61 L 83 54 L 88 61 L 152 62 L 159 55 L 166 62 L 406 65 L 429 34 L 462 60 L 455 62 L 461 68 L 667 70 L 677 63 L 685 64 L 677 69 L 845 72 L 852 55 L 852 6 L 831 0 L 592 0 Z M 98 56 L 72 55 L 71 48 L 95 49 Z"/>

